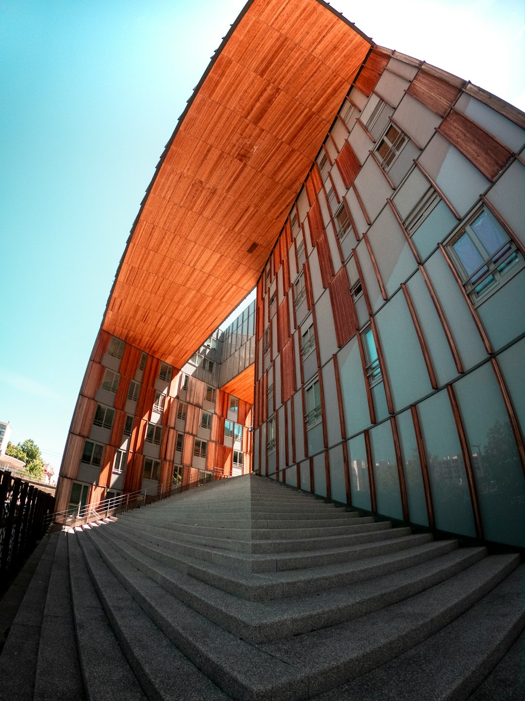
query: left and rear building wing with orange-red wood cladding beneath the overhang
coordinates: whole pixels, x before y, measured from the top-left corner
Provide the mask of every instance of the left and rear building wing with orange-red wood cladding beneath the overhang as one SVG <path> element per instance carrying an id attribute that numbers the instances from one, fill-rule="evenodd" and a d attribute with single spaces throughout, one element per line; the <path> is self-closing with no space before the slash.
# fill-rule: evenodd
<path id="1" fill-rule="evenodd" d="M 254 331 L 255 301 L 180 371 L 101 331 L 71 423 L 57 510 L 250 472 Z"/>

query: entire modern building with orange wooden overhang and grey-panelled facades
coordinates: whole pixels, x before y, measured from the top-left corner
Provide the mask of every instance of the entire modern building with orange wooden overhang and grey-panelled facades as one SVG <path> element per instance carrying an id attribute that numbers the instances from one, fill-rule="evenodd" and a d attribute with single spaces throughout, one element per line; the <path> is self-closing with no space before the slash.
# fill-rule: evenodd
<path id="1" fill-rule="evenodd" d="M 57 510 L 164 489 L 179 465 L 231 474 L 214 426 L 237 382 L 245 470 L 251 454 L 362 510 L 523 546 L 524 128 L 321 2 L 248 3 L 134 222 Z M 255 285 L 253 393 L 233 362 L 221 385 L 202 343 Z"/>

